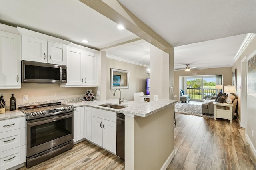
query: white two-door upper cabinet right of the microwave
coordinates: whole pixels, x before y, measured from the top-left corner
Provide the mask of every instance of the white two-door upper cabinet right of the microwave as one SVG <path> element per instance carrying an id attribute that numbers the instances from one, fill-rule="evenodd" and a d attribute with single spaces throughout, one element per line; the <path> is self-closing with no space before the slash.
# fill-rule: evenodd
<path id="1" fill-rule="evenodd" d="M 60 87 L 97 87 L 98 51 L 74 46 L 80 47 L 68 46 L 67 83 L 60 84 Z"/>

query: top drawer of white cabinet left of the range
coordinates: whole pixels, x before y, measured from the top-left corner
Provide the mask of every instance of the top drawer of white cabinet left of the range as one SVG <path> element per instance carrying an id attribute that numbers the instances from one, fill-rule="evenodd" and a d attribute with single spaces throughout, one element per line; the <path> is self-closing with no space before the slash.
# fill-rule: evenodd
<path id="1" fill-rule="evenodd" d="M 18 117 L 0 121 L 0 133 L 24 127 L 26 127 L 25 117 Z"/>

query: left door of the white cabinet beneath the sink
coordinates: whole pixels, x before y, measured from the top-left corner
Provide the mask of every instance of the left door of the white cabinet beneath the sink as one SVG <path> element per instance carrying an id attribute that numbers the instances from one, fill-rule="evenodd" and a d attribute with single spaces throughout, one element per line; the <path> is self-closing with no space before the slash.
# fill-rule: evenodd
<path id="1" fill-rule="evenodd" d="M 102 146 L 103 119 L 92 116 L 92 142 Z"/>

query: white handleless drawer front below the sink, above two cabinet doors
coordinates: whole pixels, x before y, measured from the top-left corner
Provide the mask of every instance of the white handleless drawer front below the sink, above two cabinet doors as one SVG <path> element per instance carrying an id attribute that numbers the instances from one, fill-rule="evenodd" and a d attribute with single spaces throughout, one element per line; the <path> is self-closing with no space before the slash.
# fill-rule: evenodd
<path id="1" fill-rule="evenodd" d="M 92 108 L 92 116 L 116 122 L 116 112 Z"/>

